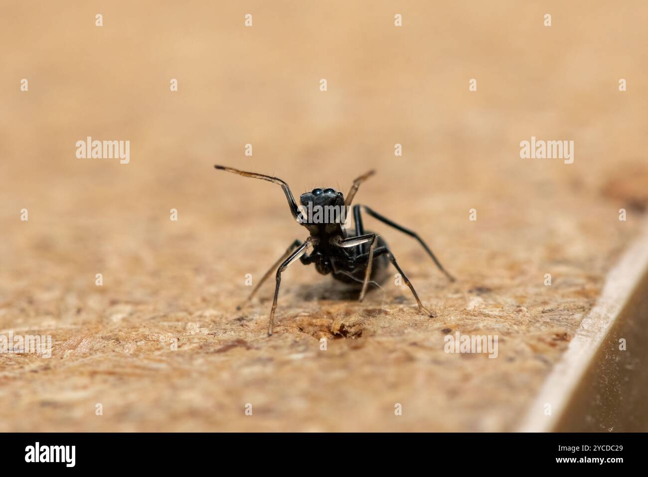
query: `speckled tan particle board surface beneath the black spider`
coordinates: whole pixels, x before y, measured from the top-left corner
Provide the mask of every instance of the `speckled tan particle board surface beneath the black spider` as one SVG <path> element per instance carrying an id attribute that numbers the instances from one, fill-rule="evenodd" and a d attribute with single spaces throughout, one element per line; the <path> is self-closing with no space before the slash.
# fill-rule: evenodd
<path id="1" fill-rule="evenodd" d="M 596 4 L 5 2 L 0 334 L 53 350 L 0 354 L 0 430 L 513 428 L 645 210 L 648 10 Z M 130 164 L 77 159 L 86 136 L 130 140 Z M 573 164 L 521 159 L 531 136 Z M 237 312 L 245 275 L 305 230 L 216 163 L 295 194 L 375 168 L 356 201 L 458 278 L 365 219 L 436 318 L 393 280 L 359 304 L 294 265 L 265 336 L 272 284 Z M 446 354 L 457 331 L 498 358 Z"/>

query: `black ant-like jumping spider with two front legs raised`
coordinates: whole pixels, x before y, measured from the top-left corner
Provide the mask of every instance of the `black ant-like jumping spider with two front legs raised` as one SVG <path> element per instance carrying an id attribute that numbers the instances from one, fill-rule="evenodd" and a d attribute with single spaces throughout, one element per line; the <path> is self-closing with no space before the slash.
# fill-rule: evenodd
<path id="1" fill-rule="evenodd" d="M 345 211 L 349 210 L 349 206 L 351 206 L 351 202 L 353 202 L 353 197 L 356 195 L 358 187 L 360 187 L 360 184 L 362 184 L 365 179 L 373 175 L 374 171 L 369 171 L 353 181 L 353 186 L 351 187 L 346 200 L 342 193 L 336 190 L 330 188 L 325 190 L 315 189 L 311 192 L 303 193 L 301 197 L 299 197 L 299 202 L 301 202 L 302 206 L 300 208 L 297 206 L 288 184 L 280 178 L 239 171 L 238 169 L 226 167 L 224 165 L 214 165 L 214 167 L 222 171 L 235 173 L 245 177 L 268 180 L 275 184 L 279 184 L 286 194 L 286 199 L 288 199 L 288 206 L 290 207 L 292 216 L 297 222 L 305 226 L 308 229 L 308 232 L 310 232 L 310 236 L 305 241 L 302 242 L 300 240 L 295 240 L 290 247 L 288 247 L 288 250 L 286 250 L 283 256 L 281 256 L 281 258 L 272 265 L 270 270 L 266 272 L 248 297 L 248 301 L 251 300 L 255 293 L 257 293 L 259 287 L 266 281 L 268 276 L 270 276 L 270 273 L 272 273 L 274 269 L 277 269 L 277 286 L 275 287 L 275 297 L 272 302 L 272 310 L 270 310 L 268 335 L 272 335 L 275 309 L 277 308 L 277 297 L 279 297 L 279 285 L 281 284 L 281 273 L 298 259 L 301 260 L 301 263 L 304 265 L 315 263 L 316 269 L 323 275 L 328 275 L 333 272 L 333 278 L 336 278 L 336 280 L 351 284 L 361 282 L 362 290 L 360 291 L 360 301 L 364 299 L 369 281 L 383 282 L 385 280 L 386 274 L 382 272 L 386 269 L 388 262 L 391 262 L 399 271 L 400 276 L 402 276 L 402 279 L 407 286 L 410 287 L 411 293 L 419 304 L 421 312 L 430 315 L 430 317 L 434 317 L 434 314 L 426 310 L 421 303 L 419 295 L 417 295 L 414 287 L 410 283 L 410 280 L 408 280 L 407 276 L 400 269 L 393 253 L 391 253 L 387 247 L 387 243 L 374 233 L 368 231 L 365 233 L 364 227 L 362 226 L 362 216 L 360 215 L 360 212 L 361 210 L 364 210 L 367 214 L 375 217 L 382 223 L 392 226 L 393 228 L 400 230 L 400 232 L 404 232 L 405 234 L 417 239 L 425 251 L 428 252 L 428 255 L 430 255 L 432 260 L 434 260 L 437 267 L 439 267 L 439 270 L 445 274 L 448 280 L 454 282 L 452 275 L 445 271 L 441 266 L 441 263 L 439 263 L 439 260 L 434 256 L 434 253 L 432 253 L 430 248 L 415 232 L 392 222 L 387 217 L 383 217 L 377 212 L 371 210 L 369 207 L 359 204 L 353 206 L 355 234 L 348 234 L 345 228 L 343 228 L 343 223 L 345 222 Z M 313 211 L 316 213 L 312 214 Z M 309 246 L 312 246 L 313 250 L 310 254 L 306 255 L 305 253 Z"/>

